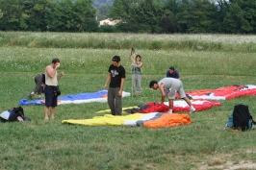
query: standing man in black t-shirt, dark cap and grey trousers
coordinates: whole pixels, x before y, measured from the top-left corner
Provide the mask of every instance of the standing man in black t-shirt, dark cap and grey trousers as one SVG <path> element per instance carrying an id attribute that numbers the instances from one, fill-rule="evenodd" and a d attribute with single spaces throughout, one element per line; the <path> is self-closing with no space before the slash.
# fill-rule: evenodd
<path id="1" fill-rule="evenodd" d="M 109 74 L 104 88 L 109 85 L 108 104 L 113 115 L 121 115 L 122 113 L 122 90 L 125 80 L 125 69 L 119 63 L 120 57 L 114 56 L 113 64 L 109 67 Z"/>

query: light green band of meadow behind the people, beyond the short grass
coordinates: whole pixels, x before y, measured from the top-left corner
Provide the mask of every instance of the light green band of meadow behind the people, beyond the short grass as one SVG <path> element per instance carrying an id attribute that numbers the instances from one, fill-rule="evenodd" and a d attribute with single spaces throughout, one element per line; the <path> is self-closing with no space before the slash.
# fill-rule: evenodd
<path id="1" fill-rule="evenodd" d="M 2 47 L 0 52 L 3 71 L 43 72 L 53 58 L 61 60 L 66 73 L 105 74 L 115 55 L 121 57 L 121 64 L 129 68 L 127 71 L 131 64 L 129 49 Z M 181 72 L 181 77 L 197 74 L 253 76 L 256 72 L 254 53 L 141 49 L 137 49 L 137 53 L 145 62 L 142 73 L 147 75 L 163 75 L 171 65 Z"/>

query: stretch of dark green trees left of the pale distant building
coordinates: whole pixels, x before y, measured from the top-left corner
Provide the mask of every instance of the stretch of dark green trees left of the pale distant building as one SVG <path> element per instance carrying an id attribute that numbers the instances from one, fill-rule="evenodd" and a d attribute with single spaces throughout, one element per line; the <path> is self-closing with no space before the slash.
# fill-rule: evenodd
<path id="1" fill-rule="evenodd" d="M 0 0 L 0 30 L 96 32 L 91 0 Z"/>

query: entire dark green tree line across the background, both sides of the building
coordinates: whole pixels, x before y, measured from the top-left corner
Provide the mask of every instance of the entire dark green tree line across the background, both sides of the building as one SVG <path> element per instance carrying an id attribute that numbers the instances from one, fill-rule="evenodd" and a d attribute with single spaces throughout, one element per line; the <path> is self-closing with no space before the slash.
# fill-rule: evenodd
<path id="1" fill-rule="evenodd" d="M 255 0 L 114 0 L 101 9 L 92 4 L 92 0 L 0 0 L 0 30 L 256 34 Z M 119 22 L 99 26 L 97 14 Z"/>

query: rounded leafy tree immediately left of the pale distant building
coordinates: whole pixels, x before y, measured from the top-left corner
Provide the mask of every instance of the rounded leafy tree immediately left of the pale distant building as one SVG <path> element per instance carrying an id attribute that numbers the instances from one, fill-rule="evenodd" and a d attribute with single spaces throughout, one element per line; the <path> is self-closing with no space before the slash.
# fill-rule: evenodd
<path id="1" fill-rule="evenodd" d="M 49 31 L 53 32 L 97 32 L 96 10 L 91 0 L 63 0 L 46 13 Z"/>

